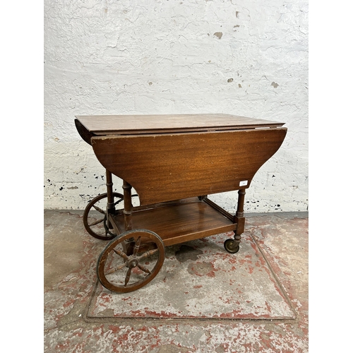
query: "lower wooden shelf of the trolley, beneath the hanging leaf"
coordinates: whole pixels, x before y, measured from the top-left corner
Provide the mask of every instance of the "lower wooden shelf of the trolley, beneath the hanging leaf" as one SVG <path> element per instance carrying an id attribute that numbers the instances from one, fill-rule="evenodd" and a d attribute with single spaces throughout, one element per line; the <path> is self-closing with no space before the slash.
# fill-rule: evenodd
<path id="1" fill-rule="evenodd" d="M 114 221 L 119 231 L 124 232 L 124 215 L 115 215 Z M 211 205 L 195 199 L 135 210 L 132 222 L 133 229 L 148 229 L 157 233 L 163 239 L 165 246 L 229 232 L 237 228 L 236 223 Z"/>

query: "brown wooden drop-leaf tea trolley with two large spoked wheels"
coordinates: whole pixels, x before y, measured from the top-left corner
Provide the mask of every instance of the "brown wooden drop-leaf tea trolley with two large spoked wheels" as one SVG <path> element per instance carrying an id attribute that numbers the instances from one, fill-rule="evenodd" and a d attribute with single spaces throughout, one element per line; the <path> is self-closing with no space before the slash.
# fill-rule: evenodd
<path id="1" fill-rule="evenodd" d="M 88 203 L 83 222 L 93 237 L 110 240 L 97 277 L 113 292 L 150 282 L 164 246 L 233 231 L 225 250 L 237 253 L 245 191 L 287 133 L 280 122 L 228 114 L 76 116 L 75 124 L 106 169 L 107 193 Z M 113 192 L 112 174 L 124 195 Z M 234 190 L 235 215 L 208 198 Z"/>

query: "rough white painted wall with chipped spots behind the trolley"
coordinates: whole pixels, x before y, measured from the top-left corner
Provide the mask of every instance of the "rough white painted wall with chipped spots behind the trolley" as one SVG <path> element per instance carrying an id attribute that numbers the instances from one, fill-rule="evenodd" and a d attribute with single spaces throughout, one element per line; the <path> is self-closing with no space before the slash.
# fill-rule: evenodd
<path id="1" fill-rule="evenodd" d="M 245 211 L 306 211 L 308 2 L 44 1 L 44 208 L 105 191 L 75 115 L 183 113 L 285 122 Z M 236 192 L 212 198 L 234 212 Z"/>

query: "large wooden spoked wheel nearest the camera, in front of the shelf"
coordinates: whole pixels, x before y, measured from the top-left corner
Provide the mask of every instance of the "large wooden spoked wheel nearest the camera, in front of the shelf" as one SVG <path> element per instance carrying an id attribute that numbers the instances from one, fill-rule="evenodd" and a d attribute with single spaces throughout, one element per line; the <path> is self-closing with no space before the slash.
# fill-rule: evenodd
<path id="1" fill-rule="evenodd" d="M 97 277 L 112 292 L 133 292 L 160 271 L 165 252 L 162 239 L 147 229 L 133 229 L 112 240 L 97 261 Z"/>

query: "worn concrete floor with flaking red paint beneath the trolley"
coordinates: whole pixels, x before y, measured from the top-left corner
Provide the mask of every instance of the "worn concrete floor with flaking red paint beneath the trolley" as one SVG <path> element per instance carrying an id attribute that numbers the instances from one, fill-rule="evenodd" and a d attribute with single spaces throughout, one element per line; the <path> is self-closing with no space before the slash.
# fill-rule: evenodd
<path id="1" fill-rule="evenodd" d="M 237 254 L 227 234 L 169 246 L 128 295 L 97 282 L 82 215 L 44 211 L 44 352 L 309 351 L 307 213 L 246 215 Z"/>

